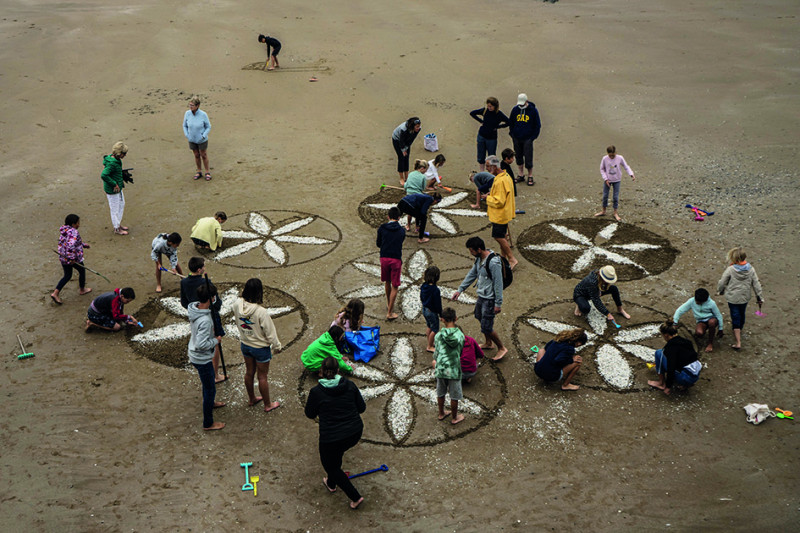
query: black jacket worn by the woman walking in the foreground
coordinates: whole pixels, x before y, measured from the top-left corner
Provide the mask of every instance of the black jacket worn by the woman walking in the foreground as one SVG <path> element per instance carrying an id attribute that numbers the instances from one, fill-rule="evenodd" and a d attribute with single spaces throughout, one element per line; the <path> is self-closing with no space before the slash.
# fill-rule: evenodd
<path id="1" fill-rule="evenodd" d="M 317 385 L 308 394 L 306 416 L 319 416 L 319 441 L 336 442 L 364 429 L 361 413 L 367 404 L 355 383 L 342 377 L 336 387 Z"/>

